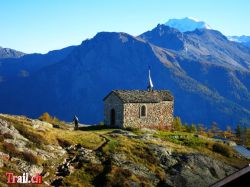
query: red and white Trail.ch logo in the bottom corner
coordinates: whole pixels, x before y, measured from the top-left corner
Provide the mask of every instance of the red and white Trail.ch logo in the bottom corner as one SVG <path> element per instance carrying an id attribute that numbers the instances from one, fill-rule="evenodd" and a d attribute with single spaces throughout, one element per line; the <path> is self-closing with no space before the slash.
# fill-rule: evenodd
<path id="1" fill-rule="evenodd" d="M 29 173 L 23 175 L 14 175 L 12 172 L 7 172 L 7 184 L 42 184 L 42 176 L 38 173 L 30 176 Z"/>

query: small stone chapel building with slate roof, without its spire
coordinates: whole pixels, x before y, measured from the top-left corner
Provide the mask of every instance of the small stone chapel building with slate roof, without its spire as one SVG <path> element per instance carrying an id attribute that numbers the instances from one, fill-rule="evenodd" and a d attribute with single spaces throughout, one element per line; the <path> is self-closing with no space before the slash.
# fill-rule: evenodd
<path id="1" fill-rule="evenodd" d="M 141 113 L 142 107 L 145 107 L 145 116 Z M 173 96 L 165 90 L 112 91 L 104 98 L 104 123 L 121 128 L 171 129 L 173 108 Z"/>

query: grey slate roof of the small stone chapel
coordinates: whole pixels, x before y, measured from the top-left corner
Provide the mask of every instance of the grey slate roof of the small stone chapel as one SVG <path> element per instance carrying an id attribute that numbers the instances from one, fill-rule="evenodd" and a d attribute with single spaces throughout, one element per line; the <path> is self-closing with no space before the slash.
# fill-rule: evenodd
<path id="1" fill-rule="evenodd" d="M 161 101 L 173 101 L 173 95 L 167 90 L 113 90 L 112 93 L 118 96 L 123 103 L 159 103 Z"/>

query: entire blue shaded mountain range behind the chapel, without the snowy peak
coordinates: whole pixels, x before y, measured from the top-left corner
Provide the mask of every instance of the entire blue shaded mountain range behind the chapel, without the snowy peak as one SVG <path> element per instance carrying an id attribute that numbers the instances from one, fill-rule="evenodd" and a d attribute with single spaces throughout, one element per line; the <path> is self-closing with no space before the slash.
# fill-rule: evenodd
<path id="1" fill-rule="evenodd" d="M 149 65 L 184 122 L 250 126 L 250 48 L 210 28 L 160 24 L 137 37 L 101 32 L 79 46 L 1 59 L 0 112 L 98 123 L 111 90 L 146 89 Z"/>

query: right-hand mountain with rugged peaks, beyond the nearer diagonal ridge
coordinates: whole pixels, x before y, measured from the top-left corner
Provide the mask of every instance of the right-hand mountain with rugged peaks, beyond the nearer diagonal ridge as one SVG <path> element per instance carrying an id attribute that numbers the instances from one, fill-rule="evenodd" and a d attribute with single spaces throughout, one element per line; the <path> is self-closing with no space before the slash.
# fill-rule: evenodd
<path id="1" fill-rule="evenodd" d="M 241 44 L 228 41 L 220 32 L 197 29 L 180 32 L 165 25 L 139 37 L 169 49 L 171 34 L 178 37 L 183 49 L 171 52 L 177 57 L 179 68 L 188 76 L 207 86 L 230 101 L 250 108 L 250 50 Z M 165 40 L 166 39 L 166 40 Z M 248 117 L 250 118 L 250 116 Z"/>

